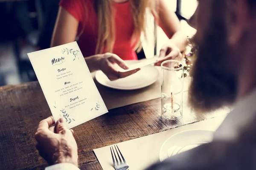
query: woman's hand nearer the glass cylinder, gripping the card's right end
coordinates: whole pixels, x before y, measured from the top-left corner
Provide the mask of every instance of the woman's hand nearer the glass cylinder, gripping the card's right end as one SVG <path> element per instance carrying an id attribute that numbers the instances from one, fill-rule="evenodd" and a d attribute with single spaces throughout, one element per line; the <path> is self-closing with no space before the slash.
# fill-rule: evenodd
<path id="1" fill-rule="evenodd" d="M 169 40 L 166 44 L 164 44 L 163 47 L 161 48 L 159 59 L 157 63 L 155 63 L 155 65 L 160 66 L 163 61 L 166 61 L 168 59 L 182 59 L 180 49 L 175 45 L 172 39 Z"/>

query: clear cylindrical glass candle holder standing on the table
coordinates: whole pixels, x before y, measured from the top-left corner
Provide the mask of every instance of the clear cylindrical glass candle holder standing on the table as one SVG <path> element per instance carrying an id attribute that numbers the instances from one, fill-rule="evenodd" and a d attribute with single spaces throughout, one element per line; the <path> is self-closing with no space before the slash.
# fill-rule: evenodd
<path id="1" fill-rule="evenodd" d="M 161 70 L 162 117 L 179 119 L 183 110 L 183 63 L 179 60 L 167 60 L 162 62 Z"/>

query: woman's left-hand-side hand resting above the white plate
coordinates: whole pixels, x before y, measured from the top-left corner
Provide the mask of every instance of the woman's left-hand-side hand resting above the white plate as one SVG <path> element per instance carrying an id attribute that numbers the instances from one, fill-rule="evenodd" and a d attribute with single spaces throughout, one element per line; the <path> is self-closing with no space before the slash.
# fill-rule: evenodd
<path id="1" fill-rule="evenodd" d="M 119 72 L 116 67 L 121 67 L 123 69 L 128 69 L 128 66 L 125 64 L 124 60 L 118 57 L 116 54 L 105 53 L 101 54 L 101 57 L 98 59 L 98 67 L 99 69 L 106 74 L 108 79 L 111 81 L 124 78 L 130 76 L 131 74 L 136 73 L 140 70 L 140 68 L 127 71 L 127 72 Z"/>

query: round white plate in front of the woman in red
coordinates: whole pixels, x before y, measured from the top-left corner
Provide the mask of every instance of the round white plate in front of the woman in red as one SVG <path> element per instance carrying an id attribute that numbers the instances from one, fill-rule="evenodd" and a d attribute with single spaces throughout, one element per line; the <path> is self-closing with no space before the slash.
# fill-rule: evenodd
<path id="1" fill-rule="evenodd" d="M 128 60 L 125 62 L 128 65 L 132 65 L 140 61 Z M 119 90 L 135 90 L 139 88 L 145 88 L 156 82 L 159 78 L 159 71 L 153 65 L 147 65 L 142 67 L 137 73 L 122 79 L 110 81 L 102 71 L 97 71 L 95 78 L 100 84 L 109 88 L 115 88 Z"/>

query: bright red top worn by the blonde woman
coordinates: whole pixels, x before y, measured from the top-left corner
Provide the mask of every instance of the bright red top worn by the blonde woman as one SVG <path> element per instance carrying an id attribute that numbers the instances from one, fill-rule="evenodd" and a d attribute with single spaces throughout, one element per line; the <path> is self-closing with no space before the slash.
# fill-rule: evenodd
<path id="1" fill-rule="evenodd" d="M 84 4 L 86 4 L 86 10 L 88 11 L 84 11 Z M 60 6 L 79 21 L 77 34 L 81 33 L 84 24 L 84 31 L 78 41 L 83 56 L 94 55 L 98 38 L 98 27 L 100 25 L 98 25 L 97 14 L 93 8 L 93 0 L 61 0 Z M 137 59 L 137 54 L 134 51 L 134 47 L 137 42 L 132 43 L 131 38 L 134 31 L 134 22 L 130 3 L 129 1 L 113 3 L 113 7 L 116 10 L 116 40 L 113 46 L 113 53 L 123 60 L 135 60 Z M 89 14 L 89 16 L 85 17 L 85 14 Z M 140 37 L 137 38 L 137 40 L 139 39 Z"/>

